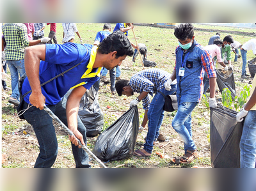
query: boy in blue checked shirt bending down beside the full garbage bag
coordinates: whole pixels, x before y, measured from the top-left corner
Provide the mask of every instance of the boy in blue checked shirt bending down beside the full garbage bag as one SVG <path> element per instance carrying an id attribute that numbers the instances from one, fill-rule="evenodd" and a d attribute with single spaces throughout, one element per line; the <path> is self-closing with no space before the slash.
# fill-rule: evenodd
<path id="1" fill-rule="evenodd" d="M 154 142 L 157 141 L 159 130 L 164 118 L 164 96 L 159 93 L 161 91 L 164 95 L 172 95 L 176 91 L 176 84 L 172 84 L 172 89 L 166 90 L 164 88 L 165 82 L 170 79 L 171 74 L 159 69 L 142 70 L 141 72 L 132 75 L 131 80 L 118 80 L 116 82 L 116 92 L 119 96 L 132 96 L 134 92 L 140 95 L 132 100 L 130 106 L 137 105 L 141 100 L 143 102 L 143 109 L 145 114 L 140 130 L 142 131 L 148 121 L 148 133 L 143 149 L 137 149 L 132 153 L 136 157 L 150 157 Z M 154 98 L 150 103 L 149 95 Z"/>

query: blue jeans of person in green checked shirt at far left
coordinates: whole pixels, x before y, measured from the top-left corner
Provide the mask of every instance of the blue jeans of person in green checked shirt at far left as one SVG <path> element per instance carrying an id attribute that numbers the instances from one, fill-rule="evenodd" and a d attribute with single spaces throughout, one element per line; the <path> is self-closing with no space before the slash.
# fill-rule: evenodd
<path id="1" fill-rule="evenodd" d="M 7 60 L 12 79 L 12 95 L 10 97 L 20 100 L 20 93 L 18 88 L 19 73 L 20 77 L 25 73 L 24 59 L 20 60 Z"/>

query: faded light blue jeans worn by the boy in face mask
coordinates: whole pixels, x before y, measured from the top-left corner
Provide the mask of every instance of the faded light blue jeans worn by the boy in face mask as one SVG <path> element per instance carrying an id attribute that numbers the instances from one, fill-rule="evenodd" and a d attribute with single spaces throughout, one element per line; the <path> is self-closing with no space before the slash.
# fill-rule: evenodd
<path id="1" fill-rule="evenodd" d="M 187 150 L 196 149 L 195 142 L 192 139 L 191 113 L 198 102 L 180 103 L 178 111 L 172 120 L 172 126 L 184 141 L 185 153 Z"/>

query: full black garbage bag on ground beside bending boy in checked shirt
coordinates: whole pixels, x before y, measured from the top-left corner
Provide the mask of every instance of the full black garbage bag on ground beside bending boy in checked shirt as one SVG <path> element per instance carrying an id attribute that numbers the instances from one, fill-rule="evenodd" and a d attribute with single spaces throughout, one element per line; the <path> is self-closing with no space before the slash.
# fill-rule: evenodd
<path id="1" fill-rule="evenodd" d="M 128 158 L 134 151 L 138 130 L 139 114 L 134 106 L 99 135 L 92 152 L 102 161 Z"/>

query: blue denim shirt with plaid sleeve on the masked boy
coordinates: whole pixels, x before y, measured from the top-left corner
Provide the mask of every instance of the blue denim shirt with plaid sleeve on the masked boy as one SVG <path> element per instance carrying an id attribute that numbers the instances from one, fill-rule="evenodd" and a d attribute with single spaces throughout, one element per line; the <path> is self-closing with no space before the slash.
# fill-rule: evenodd
<path id="1" fill-rule="evenodd" d="M 179 76 L 179 69 L 184 62 L 184 76 Z M 189 55 L 188 55 L 189 54 Z M 186 58 L 186 61 L 184 59 Z M 194 40 L 192 46 L 184 53 L 178 46 L 176 48 L 176 78 L 177 78 L 177 101 L 200 102 L 204 91 L 204 71 L 209 78 L 216 77 L 212 64 L 212 57 L 207 50 Z"/>

